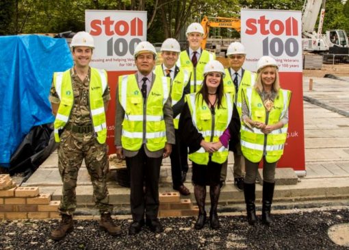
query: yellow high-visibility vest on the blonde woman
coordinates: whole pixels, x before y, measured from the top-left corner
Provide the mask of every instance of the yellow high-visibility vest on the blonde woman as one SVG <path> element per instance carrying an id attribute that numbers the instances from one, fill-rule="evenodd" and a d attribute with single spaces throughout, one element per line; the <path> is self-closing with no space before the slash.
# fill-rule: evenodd
<path id="1" fill-rule="evenodd" d="M 279 123 L 289 107 L 291 91 L 279 90 L 279 94 L 274 99 L 274 108 L 269 112 L 268 121 L 266 121 L 266 108 L 263 101 L 255 88 L 246 88 L 242 90 L 242 95 L 246 99 L 250 118 L 253 121 L 259 121 L 268 125 Z M 288 123 L 281 129 L 273 130 L 270 134 L 265 135 L 261 129 L 253 128 L 253 132 L 242 123 L 241 128 L 241 148 L 244 156 L 250 162 L 260 162 L 263 157 L 263 151 L 266 151 L 267 162 L 276 162 L 283 155 L 283 147 L 287 138 Z M 266 148 L 264 140 L 266 138 Z"/>

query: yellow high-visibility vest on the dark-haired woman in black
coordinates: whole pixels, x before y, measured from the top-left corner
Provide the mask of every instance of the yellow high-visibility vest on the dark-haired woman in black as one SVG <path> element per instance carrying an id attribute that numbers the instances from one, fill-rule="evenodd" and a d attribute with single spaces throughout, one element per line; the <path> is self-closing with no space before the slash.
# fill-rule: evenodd
<path id="1" fill-rule="evenodd" d="M 227 129 L 231 116 L 233 115 L 233 102 L 229 95 L 224 95 L 222 99 L 222 107 L 215 108 L 215 114 L 207 103 L 203 101 L 202 95 L 192 93 L 185 96 L 188 103 L 192 121 L 198 132 L 203 134 L 203 138 L 207 142 L 218 142 L 225 129 Z M 222 164 L 228 158 L 228 149 L 222 146 L 218 151 L 211 155 L 212 162 Z M 196 164 L 207 165 L 209 162 L 209 153 L 203 147 L 194 153 L 188 155 L 189 159 Z"/>

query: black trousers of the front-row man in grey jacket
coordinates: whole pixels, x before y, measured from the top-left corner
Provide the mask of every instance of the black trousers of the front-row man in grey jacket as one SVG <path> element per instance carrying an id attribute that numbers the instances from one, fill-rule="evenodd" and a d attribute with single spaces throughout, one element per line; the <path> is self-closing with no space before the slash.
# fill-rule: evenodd
<path id="1" fill-rule="evenodd" d="M 157 218 L 159 211 L 159 175 L 162 157 L 149 158 L 144 147 L 138 154 L 126 158 L 131 184 L 131 214 L 133 221 Z M 145 190 L 144 190 L 145 187 Z"/>

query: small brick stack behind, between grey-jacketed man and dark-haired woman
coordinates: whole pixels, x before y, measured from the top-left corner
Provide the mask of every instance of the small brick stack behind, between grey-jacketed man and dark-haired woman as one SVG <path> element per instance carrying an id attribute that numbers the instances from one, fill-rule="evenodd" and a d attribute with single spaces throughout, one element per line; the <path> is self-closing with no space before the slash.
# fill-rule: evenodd
<path id="1" fill-rule="evenodd" d="M 198 215 L 198 207 L 190 199 L 181 199 L 179 192 L 159 193 L 159 201 L 159 217 Z"/>

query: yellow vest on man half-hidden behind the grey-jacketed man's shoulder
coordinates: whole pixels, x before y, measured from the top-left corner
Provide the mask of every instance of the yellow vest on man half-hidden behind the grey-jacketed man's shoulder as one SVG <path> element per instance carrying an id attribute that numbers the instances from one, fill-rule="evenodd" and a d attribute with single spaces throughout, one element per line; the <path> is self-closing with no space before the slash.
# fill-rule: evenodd
<path id="1" fill-rule="evenodd" d="M 155 66 L 155 75 L 161 75 L 161 77 L 165 76 L 164 71 L 161 65 Z M 183 91 L 185 86 L 189 83 L 190 73 L 184 68 L 181 68 L 177 73 L 176 77 L 174 77 L 171 82 L 171 99 L 172 106 L 181 100 L 183 97 Z M 175 129 L 178 129 L 179 117 L 181 114 L 179 113 L 176 117 L 173 117 L 173 125 Z"/>

